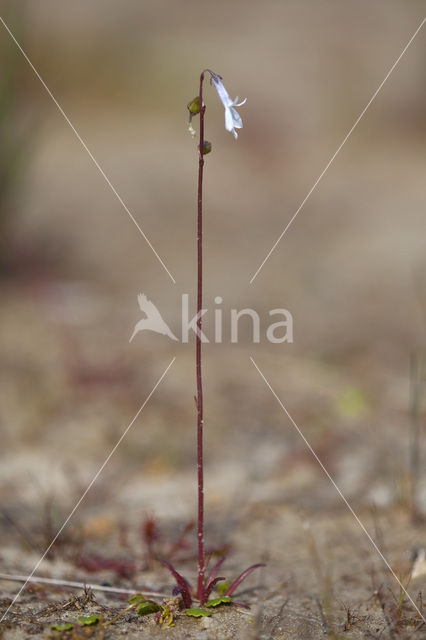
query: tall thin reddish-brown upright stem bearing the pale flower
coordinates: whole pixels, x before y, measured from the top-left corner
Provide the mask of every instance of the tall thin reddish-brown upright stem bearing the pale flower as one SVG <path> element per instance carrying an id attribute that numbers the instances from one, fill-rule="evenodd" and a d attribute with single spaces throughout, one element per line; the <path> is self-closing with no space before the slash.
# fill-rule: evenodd
<path id="1" fill-rule="evenodd" d="M 203 383 L 201 375 L 201 310 L 203 305 L 203 169 L 204 169 L 204 71 L 200 76 L 200 143 L 198 147 L 198 214 L 197 214 L 197 468 L 198 468 L 198 585 L 197 597 L 204 591 L 204 468 L 203 468 Z M 201 603 L 203 604 L 203 602 Z"/>

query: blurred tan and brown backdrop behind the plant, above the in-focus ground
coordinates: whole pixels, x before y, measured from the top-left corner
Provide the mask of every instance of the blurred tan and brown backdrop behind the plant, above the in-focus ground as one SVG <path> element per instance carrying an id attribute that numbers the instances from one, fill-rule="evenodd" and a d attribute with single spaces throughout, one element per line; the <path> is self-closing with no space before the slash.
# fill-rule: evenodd
<path id="1" fill-rule="evenodd" d="M 205 85 L 205 306 L 221 296 L 224 318 L 252 307 L 262 319 L 260 344 L 248 324 L 230 344 L 225 321 L 224 343 L 204 349 L 211 513 L 339 501 L 249 356 L 348 497 L 412 503 L 424 418 L 424 29 L 249 282 L 423 14 L 420 0 L 3 0 L 10 30 L 176 280 L 0 25 L 0 482 L 11 543 L 23 520 L 36 535 L 45 505 L 61 522 L 173 356 L 76 522 L 89 507 L 107 511 L 112 530 L 129 506 L 165 520 L 194 513 L 194 342 L 128 340 L 139 292 L 175 333 L 182 293 L 195 312 L 186 105 L 205 67 L 247 97 L 235 141 Z M 281 307 L 294 343 L 270 345 L 268 311 Z"/>

